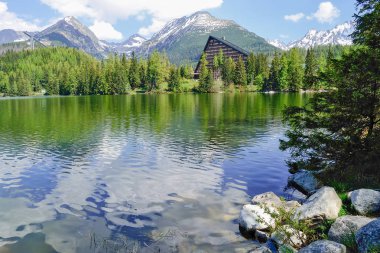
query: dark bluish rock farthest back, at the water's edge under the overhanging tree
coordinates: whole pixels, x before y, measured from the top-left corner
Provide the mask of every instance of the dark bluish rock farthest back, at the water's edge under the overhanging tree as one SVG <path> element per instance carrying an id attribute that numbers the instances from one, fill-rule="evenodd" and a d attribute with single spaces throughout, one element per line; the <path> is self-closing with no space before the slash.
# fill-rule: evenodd
<path id="1" fill-rule="evenodd" d="M 311 195 L 322 187 L 322 183 L 314 176 L 314 173 L 301 170 L 288 178 L 288 184 L 294 186 L 307 195 Z"/>

